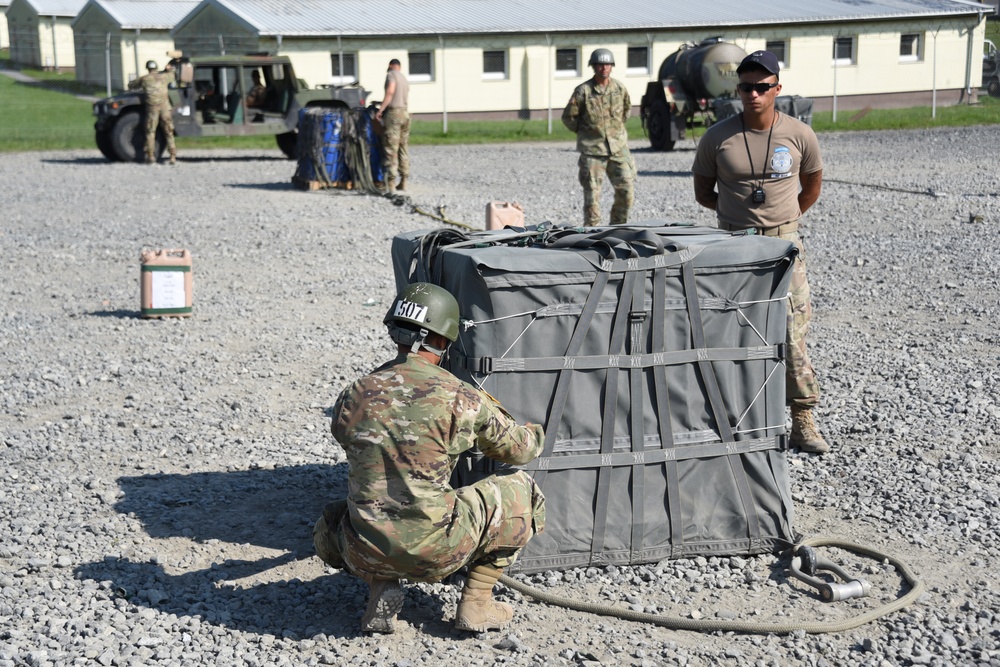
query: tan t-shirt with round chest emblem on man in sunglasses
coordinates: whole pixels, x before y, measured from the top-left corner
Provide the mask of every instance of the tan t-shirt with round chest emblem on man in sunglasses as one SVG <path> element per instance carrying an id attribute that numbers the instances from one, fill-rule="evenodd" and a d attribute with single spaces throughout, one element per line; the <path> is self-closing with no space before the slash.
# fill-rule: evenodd
<path id="1" fill-rule="evenodd" d="M 770 148 L 768 133 L 747 129 L 744 144 L 743 125 L 736 115 L 710 127 L 698 142 L 691 171 L 716 180 L 719 201 L 715 210 L 720 226 L 768 228 L 802 217 L 799 174 L 823 168 L 816 133 L 783 113 L 778 114 L 770 132 Z M 764 189 L 762 204 L 753 201 L 758 184 Z"/>

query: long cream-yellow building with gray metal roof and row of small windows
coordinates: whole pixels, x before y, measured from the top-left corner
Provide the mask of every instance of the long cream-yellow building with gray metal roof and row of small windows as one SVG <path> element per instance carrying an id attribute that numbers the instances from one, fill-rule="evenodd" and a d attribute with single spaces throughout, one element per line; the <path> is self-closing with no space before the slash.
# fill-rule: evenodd
<path id="1" fill-rule="evenodd" d="M 399 58 L 417 116 L 527 118 L 562 109 L 594 48 L 614 52 L 638 104 L 681 44 L 719 36 L 778 52 L 785 92 L 821 110 L 967 99 L 992 12 L 961 0 L 202 0 L 173 37 L 192 56 L 288 55 L 310 85 L 357 81 L 376 99 Z"/>

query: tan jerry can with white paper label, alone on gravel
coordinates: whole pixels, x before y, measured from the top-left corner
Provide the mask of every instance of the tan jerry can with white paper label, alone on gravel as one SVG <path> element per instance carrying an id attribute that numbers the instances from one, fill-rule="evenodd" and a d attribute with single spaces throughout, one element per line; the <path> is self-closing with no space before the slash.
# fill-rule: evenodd
<path id="1" fill-rule="evenodd" d="M 191 253 L 187 250 L 143 250 L 139 291 L 143 317 L 191 315 Z"/>

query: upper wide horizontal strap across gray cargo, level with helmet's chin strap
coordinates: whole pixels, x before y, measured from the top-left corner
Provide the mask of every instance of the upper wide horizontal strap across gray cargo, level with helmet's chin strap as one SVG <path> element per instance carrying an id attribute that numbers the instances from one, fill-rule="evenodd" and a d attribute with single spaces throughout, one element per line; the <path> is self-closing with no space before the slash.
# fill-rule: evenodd
<path id="1" fill-rule="evenodd" d="M 661 308 L 662 311 L 662 308 Z M 595 354 L 577 357 L 459 357 L 457 361 L 466 370 L 489 375 L 491 373 L 534 373 L 562 369 L 596 370 L 600 368 L 655 368 L 678 366 L 702 361 L 754 361 L 784 358 L 781 344 L 751 347 L 710 347 L 672 352 L 646 352 L 636 354 Z"/>

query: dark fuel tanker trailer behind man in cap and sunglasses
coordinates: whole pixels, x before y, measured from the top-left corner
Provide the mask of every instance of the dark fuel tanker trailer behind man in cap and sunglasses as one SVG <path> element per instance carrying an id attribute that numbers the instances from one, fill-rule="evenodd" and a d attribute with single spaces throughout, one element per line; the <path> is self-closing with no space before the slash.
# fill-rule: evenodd
<path id="1" fill-rule="evenodd" d="M 721 37 L 688 42 L 667 56 L 657 80 L 646 86 L 639 107 L 643 130 L 654 150 L 673 150 L 699 115 L 707 127 L 743 110 L 736 96 L 736 68 L 746 56 L 746 51 Z M 775 105 L 812 123 L 812 100 L 782 95 Z"/>

